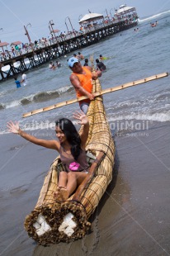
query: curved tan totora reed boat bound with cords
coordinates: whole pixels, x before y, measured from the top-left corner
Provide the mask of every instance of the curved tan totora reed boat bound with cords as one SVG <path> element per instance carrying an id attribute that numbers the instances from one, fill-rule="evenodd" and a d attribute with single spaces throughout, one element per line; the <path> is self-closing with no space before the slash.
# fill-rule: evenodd
<path id="1" fill-rule="evenodd" d="M 101 84 L 97 79 L 93 81 L 93 92 L 100 91 Z M 58 186 L 58 173 L 64 166 L 59 157 L 54 160 L 35 209 L 25 220 L 28 235 L 38 244 L 56 244 L 82 238 L 91 225 L 87 220 L 111 183 L 115 146 L 102 96 L 95 97 L 91 102 L 87 116 L 90 129 L 86 149 L 90 171 L 77 191 L 67 201 L 58 203 L 54 200 L 54 192 Z"/>

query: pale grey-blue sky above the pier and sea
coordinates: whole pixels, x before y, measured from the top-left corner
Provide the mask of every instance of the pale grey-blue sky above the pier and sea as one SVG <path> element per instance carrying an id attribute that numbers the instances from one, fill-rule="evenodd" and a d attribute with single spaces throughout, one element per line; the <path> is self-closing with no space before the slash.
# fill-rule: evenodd
<path id="1" fill-rule="evenodd" d="M 104 16 L 107 10 L 113 15 L 114 8 L 124 3 L 136 7 L 140 19 L 170 10 L 170 0 L 0 0 L 0 40 L 28 42 L 24 31 L 24 25 L 28 23 L 31 23 L 28 31 L 32 41 L 50 36 L 50 20 L 54 21 L 54 29 L 60 31 L 67 31 L 66 21 L 71 31 L 68 17 L 73 28 L 78 29 L 78 18 L 87 14 L 88 9 Z"/>

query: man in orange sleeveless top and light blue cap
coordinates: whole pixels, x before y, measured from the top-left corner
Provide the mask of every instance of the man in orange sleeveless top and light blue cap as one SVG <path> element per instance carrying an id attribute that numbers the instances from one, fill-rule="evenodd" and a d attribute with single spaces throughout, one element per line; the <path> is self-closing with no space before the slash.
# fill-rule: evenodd
<path id="1" fill-rule="evenodd" d="M 68 67 L 73 71 L 69 79 L 76 90 L 77 97 L 87 96 L 86 100 L 79 102 L 81 110 L 86 114 L 90 101 L 94 99 L 92 94 L 92 79 L 96 80 L 102 76 L 102 72 L 97 70 L 92 73 L 92 68 L 89 66 L 83 67 L 77 58 L 68 59 Z"/>

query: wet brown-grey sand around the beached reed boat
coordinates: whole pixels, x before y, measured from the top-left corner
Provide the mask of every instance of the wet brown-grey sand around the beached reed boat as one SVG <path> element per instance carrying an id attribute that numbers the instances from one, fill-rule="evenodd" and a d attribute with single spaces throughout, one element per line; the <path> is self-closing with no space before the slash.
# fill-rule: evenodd
<path id="1" fill-rule="evenodd" d="M 48 247 L 35 244 L 23 223 L 57 153 L 1 135 L 0 255 L 170 255 L 169 128 L 169 122 L 154 123 L 117 135 L 114 178 L 91 217 L 92 230 L 78 241 Z"/>

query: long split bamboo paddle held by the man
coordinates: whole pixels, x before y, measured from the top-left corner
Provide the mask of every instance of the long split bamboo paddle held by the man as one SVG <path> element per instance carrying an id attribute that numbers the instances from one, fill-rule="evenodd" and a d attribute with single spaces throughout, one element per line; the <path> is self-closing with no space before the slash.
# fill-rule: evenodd
<path id="1" fill-rule="evenodd" d="M 109 92 L 116 92 L 116 91 L 119 91 L 119 90 L 122 90 L 122 89 L 125 89 L 125 88 L 129 88 L 131 86 L 135 86 L 135 85 L 138 85 L 138 84 L 141 84 L 141 83 L 147 83 L 147 82 L 153 81 L 155 79 L 165 78 L 165 77 L 168 77 L 168 73 L 158 73 L 158 74 L 153 75 L 153 76 L 148 77 L 148 78 L 143 78 L 143 79 L 136 80 L 136 81 L 133 81 L 133 82 L 130 82 L 130 83 L 124 83 L 124 84 L 121 84 L 121 85 L 113 87 L 113 88 L 108 88 L 108 89 L 102 90 L 101 92 L 95 92 L 93 94 L 94 94 L 95 97 L 97 97 L 97 96 L 100 96 L 100 95 L 103 95 L 103 94 L 106 94 L 106 93 L 109 93 Z M 78 97 L 78 98 L 75 98 L 73 100 L 69 100 L 69 101 L 66 101 L 66 102 L 59 102 L 59 103 L 54 104 L 54 105 L 49 106 L 49 107 L 42 107 L 40 109 L 36 109 L 36 110 L 30 111 L 30 112 L 27 112 L 27 113 L 23 114 L 22 117 L 33 116 L 33 115 L 39 114 L 41 112 L 53 110 L 57 107 L 63 107 L 63 106 L 67 106 L 69 104 L 73 104 L 75 102 L 80 102 L 84 99 L 87 99 L 87 96 Z"/>

